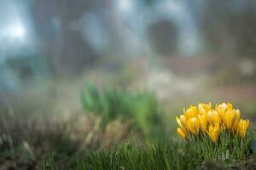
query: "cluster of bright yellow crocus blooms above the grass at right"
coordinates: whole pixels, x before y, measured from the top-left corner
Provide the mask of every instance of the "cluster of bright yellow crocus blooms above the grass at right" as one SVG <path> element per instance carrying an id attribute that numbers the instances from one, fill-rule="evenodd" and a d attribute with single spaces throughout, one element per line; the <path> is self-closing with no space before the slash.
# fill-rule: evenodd
<path id="1" fill-rule="evenodd" d="M 229 132 L 245 138 L 249 120 L 241 119 L 241 112 L 233 109 L 230 103 L 212 104 L 200 103 L 197 107 L 190 105 L 183 109 L 183 115 L 177 117 L 177 133 L 187 139 L 190 134 L 198 136 L 199 134 L 208 135 L 212 142 L 218 141 L 218 135 L 221 132 Z"/>

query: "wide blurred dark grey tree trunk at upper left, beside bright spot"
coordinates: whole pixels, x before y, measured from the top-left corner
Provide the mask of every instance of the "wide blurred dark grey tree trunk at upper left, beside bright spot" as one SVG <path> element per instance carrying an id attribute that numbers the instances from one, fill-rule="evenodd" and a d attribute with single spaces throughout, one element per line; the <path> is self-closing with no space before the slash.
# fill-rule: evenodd
<path id="1" fill-rule="evenodd" d="M 32 17 L 40 48 L 55 75 L 74 75 L 96 61 L 96 54 L 84 42 L 79 18 L 94 5 L 84 0 L 35 0 Z"/>

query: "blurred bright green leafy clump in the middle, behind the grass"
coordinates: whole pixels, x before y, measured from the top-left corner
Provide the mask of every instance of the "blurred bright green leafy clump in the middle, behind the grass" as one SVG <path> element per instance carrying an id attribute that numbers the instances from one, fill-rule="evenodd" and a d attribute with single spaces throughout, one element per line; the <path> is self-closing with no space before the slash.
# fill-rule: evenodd
<path id="1" fill-rule="evenodd" d="M 84 111 L 102 116 L 103 122 L 117 118 L 132 120 L 134 125 L 150 139 L 166 136 L 163 114 L 154 94 L 147 91 L 131 92 L 107 87 L 99 90 L 92 83 L 81 93 Z"/>

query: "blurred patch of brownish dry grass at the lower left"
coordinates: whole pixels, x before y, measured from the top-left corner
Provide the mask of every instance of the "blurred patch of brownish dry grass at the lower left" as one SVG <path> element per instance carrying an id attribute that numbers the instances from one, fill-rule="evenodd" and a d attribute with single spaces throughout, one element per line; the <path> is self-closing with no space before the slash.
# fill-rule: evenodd
<path id="1" fill-rule="evenodd" d="M 41 169 L 49 154 L 62 164 L 81 150 L 111 148 L 131 139 L 131 122 L 114 120 L 101 128 L 99 116 L 52 112 L 25 116 L 18 111 L 0 108 L 0 169 Z"/>

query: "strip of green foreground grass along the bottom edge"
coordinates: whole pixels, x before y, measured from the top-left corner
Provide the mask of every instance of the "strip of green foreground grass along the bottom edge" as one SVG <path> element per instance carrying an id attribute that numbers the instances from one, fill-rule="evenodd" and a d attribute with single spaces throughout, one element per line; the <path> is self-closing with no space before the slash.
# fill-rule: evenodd
<path id="1" fill-rule="evenodd" d="M 218 159 L 207 157 L 198 145 L 187 142 L 166 142 L 138 146 L 126 143 L 112 150 L 85 151 L 73 157 L 64 166 L 49 159 L 52 168 L 57 169 L 210 169 L 223 165 L 231 167 L 240 159 Z M 234 164 L 234 162 L 236 162 Z M 237 166 L 237 165 L 236 165 Z M 50 168 L 50 169 L 52 169 Z"/>

